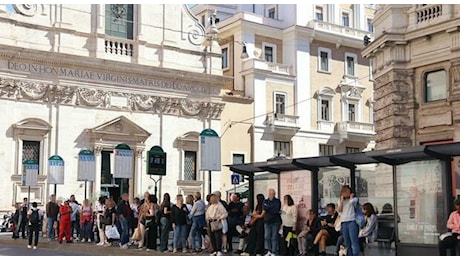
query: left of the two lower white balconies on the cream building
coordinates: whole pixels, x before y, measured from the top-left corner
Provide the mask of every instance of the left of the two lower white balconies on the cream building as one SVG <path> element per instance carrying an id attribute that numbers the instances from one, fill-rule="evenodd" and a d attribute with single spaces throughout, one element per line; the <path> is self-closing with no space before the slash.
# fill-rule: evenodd
<path id="1" fill-rule="evenodd" d="M 294 136 L 300 129 L 299 117 L 279 113 L 268 114 L 264 122 L 271 133 Z"/>

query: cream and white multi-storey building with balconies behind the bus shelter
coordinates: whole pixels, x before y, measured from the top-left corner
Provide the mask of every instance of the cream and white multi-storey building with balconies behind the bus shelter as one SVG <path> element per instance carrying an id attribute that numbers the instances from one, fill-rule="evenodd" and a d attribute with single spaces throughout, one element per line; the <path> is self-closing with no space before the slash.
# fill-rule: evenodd
<path id="1" fill-rule="evenodd" d="M 254 99 L 251 120 L 233 119 L 253 124 L 246 162 L 372 149 L 373 81 L 360 51 L 364 37 L 372 38 L 373 5 L 203 4 L 191 10 L 205 26 L 216 10 L 223 74 L 234 77 L 233 96 Z M 265 188 L 256 185 L 256 192 Z"/>

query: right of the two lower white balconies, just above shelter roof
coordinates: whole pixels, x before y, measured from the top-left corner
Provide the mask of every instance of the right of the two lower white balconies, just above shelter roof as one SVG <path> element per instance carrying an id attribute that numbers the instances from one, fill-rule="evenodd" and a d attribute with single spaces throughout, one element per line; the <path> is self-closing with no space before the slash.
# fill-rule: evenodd
<path id="1" fill-rule="evenodd" d="M 370 123 L 342 121 L 337 123 L 340 140 L 370 141 L 375 135 L 374 125 Z"/>

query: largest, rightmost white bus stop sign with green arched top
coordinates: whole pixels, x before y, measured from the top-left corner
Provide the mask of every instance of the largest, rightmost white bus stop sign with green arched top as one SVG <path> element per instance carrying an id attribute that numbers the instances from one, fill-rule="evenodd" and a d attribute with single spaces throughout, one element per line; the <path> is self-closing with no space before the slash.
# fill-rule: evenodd
<path id="1" fill-rule="evenodd" d="M 220 138 L 212 129 L 200 133 L 201 170 L 220 171 Z"/>

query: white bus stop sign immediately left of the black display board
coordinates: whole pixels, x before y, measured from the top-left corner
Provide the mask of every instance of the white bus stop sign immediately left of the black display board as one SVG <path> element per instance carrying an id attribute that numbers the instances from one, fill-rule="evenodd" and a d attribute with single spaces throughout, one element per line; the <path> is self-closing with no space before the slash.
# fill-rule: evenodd
<path id="1" fill-rule="evenodd" d="M 130 179 L 133 177 L 133 150 L 127 144 L 119 144 L 115 147 L 115 165 L 113 169 L 114 178 Z"/>

